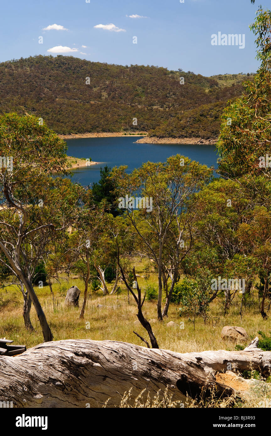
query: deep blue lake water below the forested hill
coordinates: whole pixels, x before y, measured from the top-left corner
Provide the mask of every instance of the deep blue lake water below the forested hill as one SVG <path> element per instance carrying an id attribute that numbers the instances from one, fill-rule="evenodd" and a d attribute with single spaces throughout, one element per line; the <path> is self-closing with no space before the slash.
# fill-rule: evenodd
<path id="1" fill-rule="evenodd" d="M 120 136 L 112 138 L 82 138 L 66 140 L 68 156 L 89 158 L 102 164 L 80 167 L 73 170 L 73 181 L 82 185 L 98 182 L 100 167 L 119 167 L 127 165 L 130 173 L 144 162 L 165 162 L 175 154 L 187 156 L 208 167 L 217 167 L 217 154 L 213 145 L 178 145 L 178 144 L 137 144 L 138 136 Z"/>

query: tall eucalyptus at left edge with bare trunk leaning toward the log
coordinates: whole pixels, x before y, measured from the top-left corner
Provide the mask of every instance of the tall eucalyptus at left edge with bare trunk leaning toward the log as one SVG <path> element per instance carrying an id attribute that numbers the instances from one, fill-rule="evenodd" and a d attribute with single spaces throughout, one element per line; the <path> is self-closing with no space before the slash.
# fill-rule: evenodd
<path id="1" fill-rule="evenodd" d="M 40 119 L 15 113 L 1 116 L 0 144 L 0 250 L 7 259 L 5 266 L 30 296 L 44 341 L 51 341 L 33 276 L 52 242 L 71 222 L 77 186 L 51 177 L 66 174 L 66 146 Z"/>

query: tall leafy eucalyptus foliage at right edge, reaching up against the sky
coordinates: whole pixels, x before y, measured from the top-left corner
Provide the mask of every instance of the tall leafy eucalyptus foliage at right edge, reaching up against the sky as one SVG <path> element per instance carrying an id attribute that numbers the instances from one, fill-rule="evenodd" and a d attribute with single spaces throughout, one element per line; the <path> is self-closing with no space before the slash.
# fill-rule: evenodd
<path id="1" fill-rule="evenodd" d="M 244 84 L 242 97 L 230 101 L 223 112 L 219 170 L 228 177 L 270 172 L 268 163 L 267 167 L 260 163 L 261 157 L 268 154 L 271 141 L 271 11 L 260 7 L 250 29 L 257 37 L 261 66 L 254 82 Z"/>

